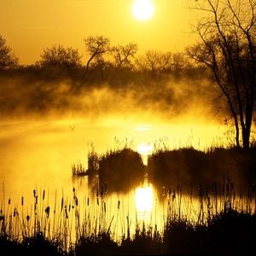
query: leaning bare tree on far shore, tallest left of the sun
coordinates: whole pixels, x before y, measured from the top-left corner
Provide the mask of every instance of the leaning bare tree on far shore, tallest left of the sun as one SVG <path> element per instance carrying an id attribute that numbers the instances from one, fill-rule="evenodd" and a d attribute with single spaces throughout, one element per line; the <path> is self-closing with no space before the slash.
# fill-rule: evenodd
<path id="1" fill-rule="evenodd" d="M 105 38 L 103 36 L 84 38 L 84 44 L 86 51 L 90 55 L 85 67 L 86 75 L 89 71 L 90 62 L 95 59 L 97 62 L 102 62 L 102 55 L 108 53 L 111 50 L 111 48 L 109 38 Z"/>

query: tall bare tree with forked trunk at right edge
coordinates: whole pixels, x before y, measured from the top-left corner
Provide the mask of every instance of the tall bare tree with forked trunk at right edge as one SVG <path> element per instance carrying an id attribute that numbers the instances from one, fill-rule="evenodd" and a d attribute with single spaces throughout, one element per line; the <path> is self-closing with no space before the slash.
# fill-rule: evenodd
<path id="1" fill-rule="evenodd" d="M 198 0 L 189 6 L 206 15 L 195 26 L 201 43 L 187 52 L 212 71 L 234 120 L 236 146 L 243 148 L 250 146 L 255 104 L 255 7 L 254 0 Z"/>

